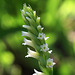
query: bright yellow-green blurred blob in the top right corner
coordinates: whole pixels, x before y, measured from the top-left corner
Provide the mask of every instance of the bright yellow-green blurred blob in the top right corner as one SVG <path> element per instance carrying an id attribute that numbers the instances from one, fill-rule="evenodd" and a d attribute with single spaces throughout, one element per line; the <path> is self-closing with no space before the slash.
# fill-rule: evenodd
<path id="1" fill-rule="evenodd" d="M 68 16 L 75 15 L 75 1 L 74 0 L 66 0 L 63 2 L 59 9 L 59 15 L 61 19 L 65 19 Z"/>

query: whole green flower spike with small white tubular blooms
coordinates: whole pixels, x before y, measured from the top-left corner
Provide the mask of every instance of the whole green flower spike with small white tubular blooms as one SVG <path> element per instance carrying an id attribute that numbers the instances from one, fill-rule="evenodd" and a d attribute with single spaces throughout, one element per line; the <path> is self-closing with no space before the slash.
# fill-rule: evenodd
<path id="1" fill-rule="evenodd" d="M 23 10 L 21 14 L 25 25 L 23 28 L 26 28 L 28 31 L 22 31 L 22 36 L 28 37 L 24 38 L 24 43 L 22 45 L 28 45 L 35 49 L 28 49 L 28 55 L 25 57 L 32 57 L 38 60 L 39 66 L 43 72 L 38 72 L 34 69 L 35 73 L 33 75 L 52 75 L 53 73 L 53 62 L 52 58 L 49 58 L 52 50 L 48 48 L 48 44 L 45 42 L 49 37 L 45 37 L 45 34 L 42 32 L 44 27 L 40 25 L 40 17 L 36 15 L 36 11 L 33 11 L 30 6 L 26 4 L 23 5 Z"/>

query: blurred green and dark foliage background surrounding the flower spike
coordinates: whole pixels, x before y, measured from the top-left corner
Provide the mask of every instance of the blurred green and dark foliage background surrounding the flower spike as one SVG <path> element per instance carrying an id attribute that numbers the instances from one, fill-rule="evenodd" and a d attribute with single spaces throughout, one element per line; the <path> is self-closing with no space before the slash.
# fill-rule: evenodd
<path id="1" fill-rule="evenodd" d="M 27 31 L 20 12 L 24 3 L 37 11 L 50 37 L 54 75 L 75 75 L 75 0 L 0 0 L 0 75 L 31 75 L 39 69 L 35 59 L 25 58 L 27 47 L 21 45 L 21 31 Z"/>

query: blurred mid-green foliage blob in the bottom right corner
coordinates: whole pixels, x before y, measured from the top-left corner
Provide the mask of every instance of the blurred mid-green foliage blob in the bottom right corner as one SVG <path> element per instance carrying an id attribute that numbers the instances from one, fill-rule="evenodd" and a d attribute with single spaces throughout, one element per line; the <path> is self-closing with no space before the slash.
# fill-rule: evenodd
<path id="1" fill-rule="evenodd" d="M 72 59 L 63 60 L 59 67 L 59 75 L 74 75 L 75 61 Z"/>

